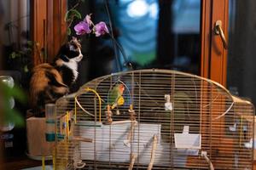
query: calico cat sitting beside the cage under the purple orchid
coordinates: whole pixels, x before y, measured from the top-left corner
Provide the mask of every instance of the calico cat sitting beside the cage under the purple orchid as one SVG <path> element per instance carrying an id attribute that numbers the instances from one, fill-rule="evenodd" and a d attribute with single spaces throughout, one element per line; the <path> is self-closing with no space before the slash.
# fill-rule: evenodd
<path id="1" fill-rule="evenodd" d="M 44 105 L 68 94 L 79 76 L 78 63 L 83 59 L 77 38 L 61 46 L 52 64 L 34 67 L 30 81 L 30 100 L 36 116 L 44 116 Z"/>

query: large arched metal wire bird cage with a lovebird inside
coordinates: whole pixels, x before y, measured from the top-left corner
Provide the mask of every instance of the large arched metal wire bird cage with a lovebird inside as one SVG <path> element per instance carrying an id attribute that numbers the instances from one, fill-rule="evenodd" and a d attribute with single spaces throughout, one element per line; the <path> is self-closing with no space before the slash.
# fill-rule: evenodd
<path id="1" fill-rule="evenodd" d="M 253 105 L 203 77 L 119 72 L 55 107 L 56 169 L 253 168 Z"/>

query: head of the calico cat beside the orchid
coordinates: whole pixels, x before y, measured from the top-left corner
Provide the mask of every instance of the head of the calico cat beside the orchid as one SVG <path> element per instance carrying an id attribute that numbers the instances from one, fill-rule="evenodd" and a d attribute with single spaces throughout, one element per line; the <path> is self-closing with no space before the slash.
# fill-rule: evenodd
<path id="1" fill-rule="evenodd" d="M 70 60 L 79 62 L 83 59 L 79 40 L 76 37 L 73 37 L 72 40 L 62 45 L 57 57 L 64 62 L 69 62 Z"/>

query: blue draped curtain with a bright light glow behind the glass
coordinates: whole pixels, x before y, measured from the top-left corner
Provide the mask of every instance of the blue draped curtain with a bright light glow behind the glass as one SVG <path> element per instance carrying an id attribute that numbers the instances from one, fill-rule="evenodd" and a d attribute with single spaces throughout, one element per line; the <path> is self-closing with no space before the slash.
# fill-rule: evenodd
<path id="1" fill-rule="evenodd" d="M 112 13 L 125 54 L 130 61 L 143 66 L 155 59 L 158 1 L 141 0 L 141 5 L 137 2 L 139 1 L 119 0 L 118 5 L 112 3 Z M 136 8 L 141 8 L 141 11 Z M 121 63 L 123 62 L 121 59 Z"/>

